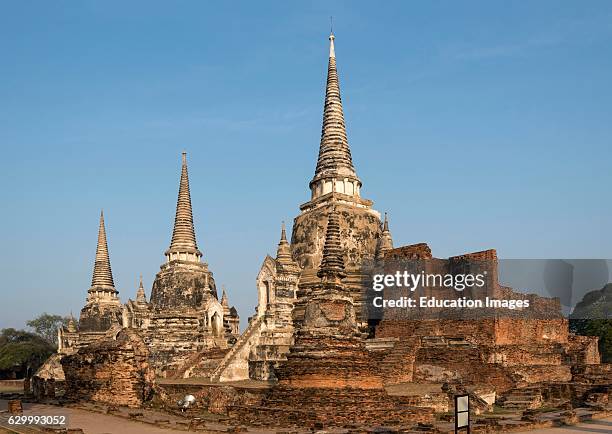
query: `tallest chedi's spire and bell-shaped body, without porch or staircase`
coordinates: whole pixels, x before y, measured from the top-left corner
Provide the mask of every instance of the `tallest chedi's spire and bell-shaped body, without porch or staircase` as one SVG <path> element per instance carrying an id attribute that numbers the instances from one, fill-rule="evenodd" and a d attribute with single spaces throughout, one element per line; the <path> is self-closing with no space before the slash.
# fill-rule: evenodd
<path id="1" fill-rule="evenodd" d="M 309 184 L 311 198 L 300 206 L 301 213 L 294 220 L 291 236 L 293 258 L 302 268 L 294 317 L 298 322 L 302 320 L 304 297 L 318 283 L 316 274 L 325 243 L 325 228 L 335 207 L 342 217 L 345 285 L 354 299 L 357 319 L 363 324 L 360 266 L 376 255 L 381 221 L 380 213 L 372 209 L 372 201 L 361 197 L 361 180 L 353 166 L 344 123 L 334 39 L 331 34 L 319 157 Z"/>

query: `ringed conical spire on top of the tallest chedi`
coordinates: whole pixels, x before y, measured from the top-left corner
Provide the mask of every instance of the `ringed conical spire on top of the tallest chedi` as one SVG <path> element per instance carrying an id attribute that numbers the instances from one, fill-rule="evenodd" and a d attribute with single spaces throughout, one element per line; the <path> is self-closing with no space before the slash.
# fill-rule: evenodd
<path id="1" fill-rule="evenodd" d="M 320 191 L 315 191 L 318 181 L 342 181 L 348 179 L 358 185 L 353 184 L 349 191 L 341 193 L 358 194 L 358 187 L 361 181 L 357 177 L 351 150 L 346 135 L 344 123 L 344 112 L 342 109 L 342 99 L 340 97 L 340 84 L 338 82 L 338 71 L 336 69 L 336 52 L 334 48 L 334 34 L 329 36 L 329 64 L 327 67 L 327 88 L 325 91 L 325 108 L 323 111 L 323 127 L 321 131 L 321 144 L 319 146 L 319 158 L 315 176 L 310 182 L 313 189 L 313 196 L 318 196 Z"/>

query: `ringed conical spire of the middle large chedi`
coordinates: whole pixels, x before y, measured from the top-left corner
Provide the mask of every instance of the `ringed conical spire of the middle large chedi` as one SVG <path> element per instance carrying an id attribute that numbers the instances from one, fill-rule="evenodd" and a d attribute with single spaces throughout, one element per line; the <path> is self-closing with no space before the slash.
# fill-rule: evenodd
<path id="1" fill-rule="evenodd" d="M 183 255 L 181 255 L 183 254 Z M 202 253 L 198 250 L 193 226 L 189 175 L 187 173 L 187 153 L 182 154 L 181 182 L 176 202 L 176 217 L 172 231 L 170 248 L 166 251 L 169 260 L 181 259 L 199 262 Z"/>

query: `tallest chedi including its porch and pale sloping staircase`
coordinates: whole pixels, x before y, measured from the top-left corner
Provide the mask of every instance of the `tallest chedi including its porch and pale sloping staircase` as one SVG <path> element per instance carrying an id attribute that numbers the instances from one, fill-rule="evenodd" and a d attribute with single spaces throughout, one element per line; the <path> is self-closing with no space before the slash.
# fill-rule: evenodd
<path id="1" fill-rule="evenodd" d="M 294 326 L 301 327 L 308 299 L 320 287 L 317 273 L 332 210 L 341 243 L 343 291 L 353 304 L 356 327 L 360 331 L 367 328 L 360 267 L 392 248 L 393 241 L 388 224 L 383 228 L 380 213 L 372 209 L 372 201 L 360 196 L 361 181 L 353 166 L 344 124 L 334 39 L 330 35 L 323 129 L 317 167 L 310 181 L 311 199 L 300 206 L 291 244 L 283 229 L 276 259 L 265 258 L 257 276 L 257 315 L 215 370 L 214 380 L 277 379 L 275 369 L 286 360 L 294 343 Z"/>

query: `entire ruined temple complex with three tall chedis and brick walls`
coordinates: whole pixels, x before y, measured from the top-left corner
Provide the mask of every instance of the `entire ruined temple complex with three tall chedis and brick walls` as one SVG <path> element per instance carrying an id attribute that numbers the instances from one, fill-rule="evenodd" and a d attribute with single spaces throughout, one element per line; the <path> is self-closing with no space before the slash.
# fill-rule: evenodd
<path id="1" fill-rule="evenodd" d="M 276 256 L 265 257 L 256 313 L 245 331 L 239 333 L 236 310 L 225 291 L 218 300 L 201 262 L 183 155 L 172 241 L 150 301 L 141 279 L 136 300 L 119 303 L 101 217 L 87 305 L 78 326 L 71 321 L 59 331 L 67 395 L 142 405 L 153 377 L 165 377 L 156 390 L 168 405 L 189 391 L 198 411 L 238 423 L 312 427 L 429 423 L 452 410 L 458 392 L 469 393 L 478 412 L 495 403 L 533 409 L 607 396 L 611 365 L 600 363 L 596 338 L 569 333 L 558 299 L 501 286 L 495 250 L 440 259 L 424 243 L 394 248 L 387 215 L 381 221 L 361 187 L 331 35 L 311 199 L 294 219 L 291 243 L 283 224 Z M 529 299 L 539 315 L 466 319 L 440 311 L 414 318 L 389 310 L 373 316 L 368 264 L 406 260 L 451 274 L 484 263 L 485 294 Z M 116 382 L 104 383 L 115 374 Z M 172 383 L 185 378 L 201 384 Z M 243 380 L 261 387 L 236 383 Z M 116 397 L 117 388 L 125 393 Z"/>

